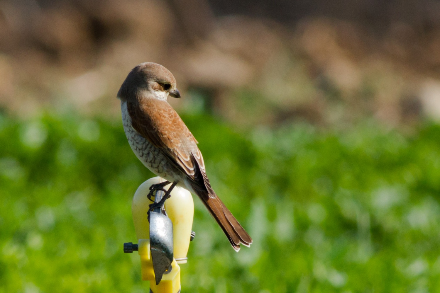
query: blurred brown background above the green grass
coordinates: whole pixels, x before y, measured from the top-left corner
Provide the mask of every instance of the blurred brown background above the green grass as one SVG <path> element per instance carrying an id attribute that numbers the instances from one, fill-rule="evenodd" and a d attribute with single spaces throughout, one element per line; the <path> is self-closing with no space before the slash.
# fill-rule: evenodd
<path id="1" fill-rule="evenodd" d="M 1 0 L 0 107 L 119 114 L 144 61 L 241 125 L 440 119 L 440 2 Z"/>

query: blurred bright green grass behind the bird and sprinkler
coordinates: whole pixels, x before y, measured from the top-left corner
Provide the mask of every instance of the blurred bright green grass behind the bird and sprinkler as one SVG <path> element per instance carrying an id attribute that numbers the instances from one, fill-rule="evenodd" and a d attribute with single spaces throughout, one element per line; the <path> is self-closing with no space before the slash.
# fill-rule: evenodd
<path id="1" fill-rule="evenodd" d="M 440 291 L 439 125 L 236 133 L 183 118 L 254 243 L 235 253 L 195 199 L 182 292 Z M 152 176 L 120 121 L 1 114 L 0 292 L 148 292 L 122 243 Z"/>

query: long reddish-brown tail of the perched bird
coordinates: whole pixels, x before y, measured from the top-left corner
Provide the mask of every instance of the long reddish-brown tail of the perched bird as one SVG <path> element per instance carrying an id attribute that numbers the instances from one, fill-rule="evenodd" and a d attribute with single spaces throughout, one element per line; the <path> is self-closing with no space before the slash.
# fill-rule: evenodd
<path id="1" fill-rule="evenodd" d="M 229 239 L 229 242 L 231 242 L 231 245 L 235 251 L 240 250 L 240 243 L 248 247 L 252 244 L 252 239 L 250 238 L 249 234 L 245 231 L 242 225 L 238 223 L 237 219 L 235 219 L 232 213 L 215 195 L 215 193 L 213 195 L 199 195 L 199 197 L 208 208 L 209 213 L 211 213 L 216 222 L 222 228 L 224 234 L 226 234 L 227 239 Z"/>

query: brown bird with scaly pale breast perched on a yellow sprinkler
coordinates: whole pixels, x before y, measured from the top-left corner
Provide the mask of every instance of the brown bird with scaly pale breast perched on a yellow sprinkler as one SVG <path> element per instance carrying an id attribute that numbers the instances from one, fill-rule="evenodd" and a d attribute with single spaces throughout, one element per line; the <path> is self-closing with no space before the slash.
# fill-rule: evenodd
<path id="1" fill-rule="evenodd" d="M 198 141 L 169 105 L 168 97 L 180 98 L 176 79 L 153 62 L 133 68 L 117 93 L 132 151 L 151 172 L 166 180 L 150 190 L 164 190 L 172 182 L 161 200 L 163 205 L 174 186 L 186 188 L 202 200 L 235 251 L 240 250 L 240 244 L 249 247 L 251 237 L 211 187 Z M 150 211 L 157 207 L 157 203 L 150 205 Z"/>

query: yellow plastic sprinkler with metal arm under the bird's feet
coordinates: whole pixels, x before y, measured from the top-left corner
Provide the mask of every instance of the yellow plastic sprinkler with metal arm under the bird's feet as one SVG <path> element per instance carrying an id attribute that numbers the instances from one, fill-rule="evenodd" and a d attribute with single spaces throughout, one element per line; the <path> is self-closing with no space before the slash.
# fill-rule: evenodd
<path id="1" fill-rule="evenodd" d="M 150 178 L 136 190 L 132 214 L 138 244 L 124 243 L 124 252 L 138 251 L 142 280 L 150 281 L 151 293 L 178 293 L 179 264 L 187 262 L 190 241 L 195 235 L 191 231 L 194 202 L 190 192 L 176 186 L 171 191 L 171 197 L 165 201 L 166 213 L 160 208 L 155 209 L 150 212 L 148 221 L 147 212 L 151 201 L 147 195 L 151 185 L 161 182 L 165 182 L 165 179 Z M 157 191 L 154 201 L 160 201 L 163 195 L 164 192 Z"/>

